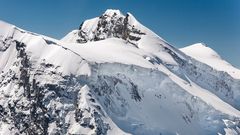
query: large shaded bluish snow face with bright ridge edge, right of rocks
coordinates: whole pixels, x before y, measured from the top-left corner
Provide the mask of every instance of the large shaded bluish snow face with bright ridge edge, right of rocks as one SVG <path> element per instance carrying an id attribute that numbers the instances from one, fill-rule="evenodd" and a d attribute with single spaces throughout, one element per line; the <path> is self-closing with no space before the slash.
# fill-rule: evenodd
<path id="1" fill-rule="evenodd" d="M 113 121 L 133 134 L 224 134 L 215 114 L 239 117 L 238 110 L 216 95 L 164 67 L 159 70 L 101 64 L 93 67 L 89 86 Z"/>

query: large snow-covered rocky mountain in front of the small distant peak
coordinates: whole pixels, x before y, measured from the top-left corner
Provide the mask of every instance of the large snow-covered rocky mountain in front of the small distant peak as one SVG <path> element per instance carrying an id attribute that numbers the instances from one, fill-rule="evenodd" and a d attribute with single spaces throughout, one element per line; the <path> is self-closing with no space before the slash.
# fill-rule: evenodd
<path id="1" fill-rule="evenodd" d="M 238 70 L 188 48 L 119 10 L 61 40 L 1 21 L 0 134 L 240 134 Z"/>

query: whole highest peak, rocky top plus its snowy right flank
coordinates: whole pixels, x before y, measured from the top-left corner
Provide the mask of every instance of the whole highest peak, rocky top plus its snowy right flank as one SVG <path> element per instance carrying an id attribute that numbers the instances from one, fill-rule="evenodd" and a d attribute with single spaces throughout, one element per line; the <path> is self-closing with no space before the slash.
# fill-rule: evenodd
<path id="1" fill-rule="evenodd" d="M 168 64 L 177 64 L 170 54 L 162 51 L 164 47 L 171 48 L 165 40 L 139 23 L 132 14 L 124 16 L 119 10 L 108 9 L 100 17 L 84 21 L 79 30 L 73 30 L 61 41 L 86 43 L 108 38 L 124 39 L 126 43 L 153 53 Z"/>

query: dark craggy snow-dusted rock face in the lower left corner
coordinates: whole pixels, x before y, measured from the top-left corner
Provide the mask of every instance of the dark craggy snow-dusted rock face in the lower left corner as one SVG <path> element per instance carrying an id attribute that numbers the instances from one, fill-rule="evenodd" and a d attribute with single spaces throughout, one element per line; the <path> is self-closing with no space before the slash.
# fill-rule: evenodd
<path id="1" fill-rule="evenodd" d="M 84 90 L 80 90 L 81 78 L 63 76 L 58 67 L 44 60 L 34 68 L 36 63 L 30 61 L 26 45 L 13 42 L 18 52 L 15 66 L 1 76 L 1 125 L 9 125 L 7 128 L 16 134 L 61 135 L 75 134 L 70 126 L 79 123 L 92 133 L 106 134 L 110 127 L 103 122 L 99 105 L 83 106 L 78 102 L 87 100 L 87 95 L 82 95 Z M 42 77 L 49 79 L 42 84 Z M 12 93 L 2 89 L 6 86 L 12 88 Z"/>

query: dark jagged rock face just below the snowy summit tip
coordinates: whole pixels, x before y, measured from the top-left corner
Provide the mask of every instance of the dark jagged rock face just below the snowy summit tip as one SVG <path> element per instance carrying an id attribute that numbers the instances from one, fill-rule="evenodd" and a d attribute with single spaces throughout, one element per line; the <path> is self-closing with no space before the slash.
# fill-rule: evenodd
<path id="1" fill-rule="evenodd" d="M 129 14 L 123 16 L 120 12 L 111 14 L 105 12 L 97 20 L 97 26 L 91 31 L 83 27 L 86 22 L 83 22 L 79 27 L 78 43 L 86 43 L 88 41 L 99 41 L 106 38 L 115 37 L 122 38 L 134 44 L 141 39 L 141 35 L 146 33 L 135 28 L 134 24 L 129 23 Z"/>

